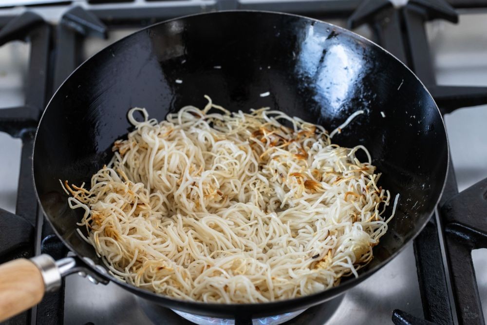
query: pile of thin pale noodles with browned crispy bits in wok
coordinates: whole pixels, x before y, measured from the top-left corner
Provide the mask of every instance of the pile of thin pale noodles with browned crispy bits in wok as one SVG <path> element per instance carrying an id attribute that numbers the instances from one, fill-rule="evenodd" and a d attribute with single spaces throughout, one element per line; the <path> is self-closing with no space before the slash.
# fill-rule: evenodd
<path id="1" fill-rule="evenodd" d="M 382 217 L 391 195 L 367 150 L 331 144 L 321 126 L 279 111 L 230 114 L 206 98 L 203 110 L 160 123 L 131 109 L 135 130 L 114 143 L 91 189 L 65 182 L 111 272 L 211 303 L 289 299 L 357 276 L 393 217 Z"/>

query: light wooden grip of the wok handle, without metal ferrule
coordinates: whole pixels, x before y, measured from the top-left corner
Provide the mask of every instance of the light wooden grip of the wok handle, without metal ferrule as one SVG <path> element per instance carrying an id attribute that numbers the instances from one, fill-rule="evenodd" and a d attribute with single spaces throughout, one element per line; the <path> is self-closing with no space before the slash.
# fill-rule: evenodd
<path id="1" fill-rule="evenodd" d="M 18 259 L 0 265 L 0 322 L 37 305 L 44 296 L 44 280 L 37 266 Z"/>

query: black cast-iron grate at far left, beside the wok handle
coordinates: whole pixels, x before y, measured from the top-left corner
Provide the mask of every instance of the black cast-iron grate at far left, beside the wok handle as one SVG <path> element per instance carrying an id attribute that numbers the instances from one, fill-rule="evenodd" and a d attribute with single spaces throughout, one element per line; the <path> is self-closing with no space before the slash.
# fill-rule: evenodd
<path id="1" fill-rule="evenodd" d="M 0 209 L 2 232 L 0 261 L 31 257 L 36 251 L 35 227 L 37 202 L 32 180 L 32 149 L 37 121 L 47 98 L 47 71 L 51 45 L 51 28 L 36 14 L 23 15 L 2 21 L 0 45 L 12 40 L 30 42 L 30 63 L 25 103 L 21 107 L 0 110 L 0 131 L 22 140 L 19 187 L 16 214 Z M 29 324 L 30 311 L 8 320 L 7 324 Z"/>

